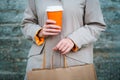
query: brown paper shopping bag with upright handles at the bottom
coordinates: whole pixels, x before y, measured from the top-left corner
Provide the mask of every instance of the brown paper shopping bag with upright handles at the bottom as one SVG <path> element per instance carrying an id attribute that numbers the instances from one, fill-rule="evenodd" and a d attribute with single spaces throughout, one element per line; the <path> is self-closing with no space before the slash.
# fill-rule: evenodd
<path id="1" fill-rule="evenodd" d="M 45 54 L 43 58 L 43 69 L 33 69 L 27 73 L 28 80 L 97 80 L 93 64 L 80 66 L 66 66 L 64 57 L 64 68 L 45 69 Z"/>

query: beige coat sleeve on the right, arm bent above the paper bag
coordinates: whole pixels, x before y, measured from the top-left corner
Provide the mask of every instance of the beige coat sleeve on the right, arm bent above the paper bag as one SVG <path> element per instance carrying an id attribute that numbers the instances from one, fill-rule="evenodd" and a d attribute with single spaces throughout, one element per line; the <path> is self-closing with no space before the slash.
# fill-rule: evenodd
<path id="1" fill-rule="evenodd" d="M 83 18 L 84 25 L 68 35 L 78 49 L 95 42 L 106 29 L 98 0 L 86 0 Z"/>

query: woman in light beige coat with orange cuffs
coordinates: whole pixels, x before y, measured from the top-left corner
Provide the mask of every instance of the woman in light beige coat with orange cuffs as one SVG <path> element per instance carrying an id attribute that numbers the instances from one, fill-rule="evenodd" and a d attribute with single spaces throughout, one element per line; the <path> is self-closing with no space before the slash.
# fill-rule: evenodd
<path id="1" fill-rule="evenodd" d="M 105 23 L 98 0 L 28 0 L 23 19 L 23 33 L 33 41 L 29 51 L 26 71 L 42 68 L 43 52 L 46 67 L 50 67 L 55 53 L 54 67 L 62 67 L 63 56 L 69 66 L 93 63 L 93 42 L 105 30 Z M 62 6 L 63 24 L 48 20 L 47 6 Z M 75 60 L 77 61 L 75 61 Z"/>

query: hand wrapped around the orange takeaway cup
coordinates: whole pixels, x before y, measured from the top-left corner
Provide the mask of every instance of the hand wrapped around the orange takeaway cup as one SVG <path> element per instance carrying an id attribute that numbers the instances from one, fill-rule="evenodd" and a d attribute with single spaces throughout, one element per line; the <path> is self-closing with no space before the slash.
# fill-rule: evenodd
<path id="1" fill-rule="evenodd" d="M 47 20 L 42 30 L 39 32 L 39 37 L 55 36 L 61 32 L 61 27 L 55 25 L 56 21 Z"/>

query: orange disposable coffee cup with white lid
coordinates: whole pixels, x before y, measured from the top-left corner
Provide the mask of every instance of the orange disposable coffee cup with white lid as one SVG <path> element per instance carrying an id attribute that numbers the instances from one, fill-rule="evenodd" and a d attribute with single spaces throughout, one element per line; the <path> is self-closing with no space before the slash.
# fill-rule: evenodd
<path id="1" fill-rule="evenodd" d="M 55 20 L 56 25 L 62 28 L 62 6 L 48 6 L 46 11 L 48 19 Z"/>

